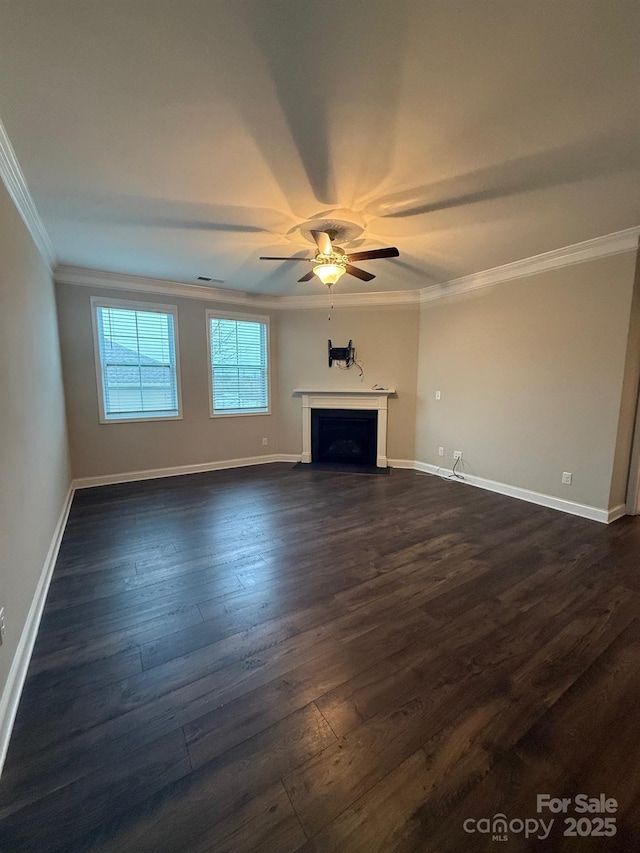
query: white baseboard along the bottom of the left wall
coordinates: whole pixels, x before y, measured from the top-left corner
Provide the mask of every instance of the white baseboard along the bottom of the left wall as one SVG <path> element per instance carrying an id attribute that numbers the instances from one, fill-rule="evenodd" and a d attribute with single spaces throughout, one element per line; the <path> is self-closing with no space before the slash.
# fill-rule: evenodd
<path id="1" fill-rule="evenodd" d="M 38 627 L 40 626 L 44 605 L 47 600 L 47 593 L 49 591 L 49 584 L 51 583 L 53 569 L 58 558 L 62 535 L 67 524 L 67 518 L 69 517 L 69 510 L 71 509 L 74 491 L 75 489 L 72 483 L 64 500 L 62 511 L 58 518 L 58 523 L 53 531 L 51 544 L 49 545 L 49 550 L 47 551 L 42 572 L 40 573 L 40 579 L 38 580 L 38 585 L 31 602 L 31 607 L 27 614 L 27 621 L 22 629 L 18 648 L 16 649 L 11 669 L 9 670 L 9 677 L 7 678 L 7 683 L 2 692 L 2 696 L 0 697 L 0 774 L 2 774 L 4 761 L 7 757 L 7 749 L 9 748 L 9 740 L 11 738 L 13 723 L 16 718 L 22 688 L 24 687 L 24 682 L 27 677 L 29 662 L 31 661 L 33 647 L 38 634 Z"/>

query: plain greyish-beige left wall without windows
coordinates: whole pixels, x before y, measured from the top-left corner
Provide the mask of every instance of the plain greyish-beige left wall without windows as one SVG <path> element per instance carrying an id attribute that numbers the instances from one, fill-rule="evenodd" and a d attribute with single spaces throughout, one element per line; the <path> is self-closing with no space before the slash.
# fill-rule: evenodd
<path id="1" fill-rule="evenodd" d="M 0 182 L 0 691 L 69 489 L 53 283 Z"/>

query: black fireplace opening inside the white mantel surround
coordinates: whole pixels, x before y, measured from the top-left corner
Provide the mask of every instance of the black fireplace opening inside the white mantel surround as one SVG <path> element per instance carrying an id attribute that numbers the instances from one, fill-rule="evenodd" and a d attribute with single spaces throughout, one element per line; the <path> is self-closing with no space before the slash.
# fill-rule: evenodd
<path id="1" fill-rule="evenodd" d="M 376 410 L 311 410 L 312 462 L 375 467 L 377 441 Z"/>

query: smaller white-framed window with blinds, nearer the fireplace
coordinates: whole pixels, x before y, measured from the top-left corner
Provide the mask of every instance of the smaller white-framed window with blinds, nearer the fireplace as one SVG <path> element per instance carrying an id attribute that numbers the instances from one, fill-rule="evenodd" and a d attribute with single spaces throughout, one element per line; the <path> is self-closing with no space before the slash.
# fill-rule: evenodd
<path id="1" fill-rule="evenodd" d="M 211 415 L 269 413 L 269 321 L 207 311 Z"/>

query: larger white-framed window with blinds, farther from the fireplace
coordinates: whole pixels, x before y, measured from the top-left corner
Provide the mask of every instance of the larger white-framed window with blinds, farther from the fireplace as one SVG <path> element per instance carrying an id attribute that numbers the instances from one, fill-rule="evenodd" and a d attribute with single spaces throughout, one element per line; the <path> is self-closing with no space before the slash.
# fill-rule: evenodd
<path id="1" fill-rule="evenodd" d="M 180 418 L 176 307 L 91 302 L 101 423 Z"/>

